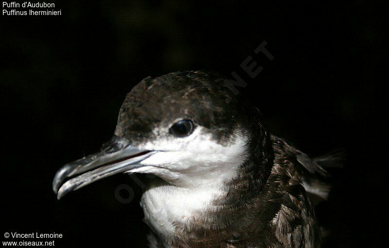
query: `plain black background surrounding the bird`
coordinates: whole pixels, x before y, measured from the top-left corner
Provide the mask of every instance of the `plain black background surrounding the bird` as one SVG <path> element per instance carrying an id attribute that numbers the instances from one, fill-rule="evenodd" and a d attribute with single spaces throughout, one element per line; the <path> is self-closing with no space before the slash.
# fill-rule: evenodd
<path id="1" fill-rule="evenodd" d="M 125 94 L 142 78 L 206 69 L 236 71 L 268 129 L 306 153 L 345 149 L 344 168 L 330 169 L 330 200 L 318 206 L 329 232 L 323 247 L 383 245 L 382 6 L 53 2 L 62 16 L 0 18 L 2 241 L 13 240 L 6 231 L 54 231 L 64 235 L 57 247 L 141 247 L 147 228 L 133 180 L 116 175 L 57 201 L 54 173 L 111 137 Z M 273 61 L 253 52 L 263 41 Z M 255 79 L 239 66 L 248 55 L 264 67 Z M 115 198 L 122 183 L 135 192 L 128 204 Z"/>

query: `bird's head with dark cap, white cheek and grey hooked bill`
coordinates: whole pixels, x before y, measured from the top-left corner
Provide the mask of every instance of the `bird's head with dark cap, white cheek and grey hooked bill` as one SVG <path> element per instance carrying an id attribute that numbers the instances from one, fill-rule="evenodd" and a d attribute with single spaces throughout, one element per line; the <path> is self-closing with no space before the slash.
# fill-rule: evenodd
<path id="1" fill-rule="evenodd" d="M 203 71 L 143 79 L 127 94 L 112 139 L 60 168 L 53 191 L 61 198 L 117 173 L 206 186 L 244 173 L 243 167 L 252 170 L 253 156 L 258 177 L 267 177 L 271 149 L 262 116 L 226 82 Z"/>

